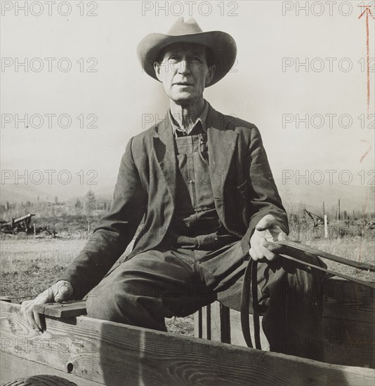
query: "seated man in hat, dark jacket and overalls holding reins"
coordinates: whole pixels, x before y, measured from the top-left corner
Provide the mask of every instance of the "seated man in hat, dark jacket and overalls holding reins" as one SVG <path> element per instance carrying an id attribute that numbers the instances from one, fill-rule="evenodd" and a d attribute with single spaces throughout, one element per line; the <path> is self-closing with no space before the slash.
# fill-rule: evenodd
<path id="1" fill-rule="evenodd" d="M 202 32 L 193 19 L 140 42 L 143 69 L 162 82 L 169 112 L 129 141 L 110 212 L 60 280 L 22 304 L 29 324 L 41 328 L 34 304 L 81 299 L 96 287 L 89 317 L 166 331 L 165 317 L 233 295 L 249 254 L 261 260 L 259 302 L 271 350 L 319 357 L 306 339 L 319 338 L 322 277 L 268 248 L 288 225 L 261 135 L 203 98 L 236 52 L 230 35 Z M 133 251 L 121 256 L 143 218 Z"/>

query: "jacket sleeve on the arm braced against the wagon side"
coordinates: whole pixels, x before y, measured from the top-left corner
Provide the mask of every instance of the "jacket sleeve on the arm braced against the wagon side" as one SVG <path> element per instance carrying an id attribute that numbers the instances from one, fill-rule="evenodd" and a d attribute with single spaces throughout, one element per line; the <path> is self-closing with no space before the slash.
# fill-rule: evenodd
<path id="1" fill-rule="evenodd" d="M 121 159 L 109 213 L 100 219 L 84 249 L 58 279 L 72 284 L 74 300 L 83 298 L 103 279 L 133 239 L 145 213 L 147 193 L 134 164 L 132 141 Z"/>

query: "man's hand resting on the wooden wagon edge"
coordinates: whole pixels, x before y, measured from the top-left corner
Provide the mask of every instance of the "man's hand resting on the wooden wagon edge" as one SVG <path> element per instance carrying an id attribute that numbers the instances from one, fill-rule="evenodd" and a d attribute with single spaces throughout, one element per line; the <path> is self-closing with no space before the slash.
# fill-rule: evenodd
<path id="1" fill-rule="evenodd" d="M 42 331 L 41 319 L 39 314 L 34 311 L 34 305 L 41 305 L 51 302 L 64 302 L 72 296 L 73 287 L 69 281 L 60 280 L 53 284 L 46 291 L 39 293 L 34 300 L 25 300 L 21 305 L 21 312 L 27 323 L 34 328 L 34 330 Z"/>

